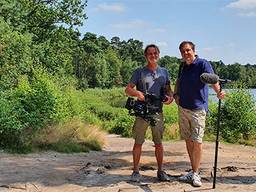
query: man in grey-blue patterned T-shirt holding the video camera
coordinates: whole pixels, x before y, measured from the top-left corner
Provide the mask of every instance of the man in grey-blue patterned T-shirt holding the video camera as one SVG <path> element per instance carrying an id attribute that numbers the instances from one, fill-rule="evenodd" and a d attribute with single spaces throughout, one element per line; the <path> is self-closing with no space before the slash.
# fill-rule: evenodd
<path id="1" fill-rule="evenodd" d="M 159 48 L 154 45 L 148 45 L 145 48 L 144 56 L 147 60 L 147 65 L 138 68 L 133 72 L 130 82 L 126 86 L 125 93 L 129 96 L 137 97 L 138 101 L 145 101 L 145 94 L 153 94 L 158 103 L 159 110 L 154 114 L 154 118 L 158 119 L 155 125 L 150 123 L 140 116 L 137 116 L 133 126 L 133 136 L 135 139 L 133 146 L 133 173 L 131 175 L 132 181 L 138 182 L 140 180 L 139 161 L 141 157 L 142 144 L 145 140 L 145 133 L 148 126 L 151 126 L 153 142 L 155 144 L 155 156 L 158 165 L 157 177 L 160 181 L 169 181 L 168 175 L 163 171 L 163 145 L 162 136 L 164 129 L 161 90 L 164 89 L 166 93 L 166 100 L 164 104 L 170 104 L 173 101 L 172 92 L 170 88 L 170 80 L 168 71 L 165 68 L 158 66 Z M 136 89 L 135 89 L 136 88 Z"/>

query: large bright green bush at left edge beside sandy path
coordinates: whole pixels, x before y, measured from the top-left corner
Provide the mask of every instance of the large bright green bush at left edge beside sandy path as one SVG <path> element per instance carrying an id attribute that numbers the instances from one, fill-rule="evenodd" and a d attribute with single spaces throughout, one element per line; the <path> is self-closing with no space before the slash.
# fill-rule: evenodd
<path id="1" fill-rule="evenodd" d="M 29 146 L 38 129 L 71 116 L 68 98 L 56 85 L 51 76 L 34 70 L 30 79 L 19 76 L 16 88 L 2 92 L 1 147 Z"/>

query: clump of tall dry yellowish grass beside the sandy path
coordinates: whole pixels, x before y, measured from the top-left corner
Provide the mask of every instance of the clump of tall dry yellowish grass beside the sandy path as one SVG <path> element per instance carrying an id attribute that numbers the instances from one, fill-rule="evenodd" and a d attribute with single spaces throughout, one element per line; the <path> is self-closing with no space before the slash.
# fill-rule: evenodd
<path id="1" fill-rule="evenodd" d="M 33 139 L 34 146 L 58 152 L 88 152 L 101 150 L 106 133 L 95 125 L 72 119 L 66 123 L 48 126 Z"/>

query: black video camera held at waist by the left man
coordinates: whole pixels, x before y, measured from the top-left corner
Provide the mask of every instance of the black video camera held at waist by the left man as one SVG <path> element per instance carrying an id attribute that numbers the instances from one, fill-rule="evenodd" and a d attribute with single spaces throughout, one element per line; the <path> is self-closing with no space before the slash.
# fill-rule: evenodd
<path id="1" fill-rule="evenodd" d="M 151 126 L 155 126 L 157 119 L 154 115 L 161 112 L 162 102 L 166 101 L 166 96 L 157 97 L 154 94 L 145 94 L 145 101 L 135 100 L 128 97 L 125 108 L 129 110 L 130 115 L 139 116 L 149 122 Z"/>

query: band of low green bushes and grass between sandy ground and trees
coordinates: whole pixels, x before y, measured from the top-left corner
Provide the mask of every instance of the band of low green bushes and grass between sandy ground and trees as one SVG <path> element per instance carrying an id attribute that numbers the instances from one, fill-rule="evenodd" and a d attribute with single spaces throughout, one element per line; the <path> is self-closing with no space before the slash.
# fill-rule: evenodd
<path id="1" fill-rule="evenodd" d="M 16 100 L 7 102 L 2 98 L 2 103 L 0 102 L 1 106 L 7 109 L 0 111 L 1 132 L 4 133 L 1 135 L 1 147 L 7 151 L 87 152 L 101 150 L 104 145 L 104 135 L 107 133 L 132 137 L 135 117 L 129 115 L 128 110 L 124 108 L 127 96 L 123 88 L 80 91 L 69 87 L 60 90 L 54 84 L 46 84 L 48 87 L 44 84 L 44 91 L 41 86 L 37 85 L 42 92 L 40 93 L 42 95 L 38 96 L 30 91 L 30 88 L 37 90 L 37 86 L 33 87 L 34 85 L 30 84 L 28 88 L 28 84 L 24 82 L 22 85 L 9 95 L 9 98 Z M 246 99 L 241 94 L 243 93 L 231 94 L 222 106 L 221 139 L 230 143 L 255 146 L 256 120 L 255 108 L 252 107 L 255 104 L 251 102 L 249 105 L 250 98 Z M 40 101 L 41 97 L 42 101 Z M 240 97 L 242 101 L 245 100 L 244 103 L 234 102 Z M 21 102 L 17 102 L 17 98 Z M 14 101 L 16 105 L 11 105 L 15 104 Z M 39 107 L 33 107 L 35 104 Z M 249 110 L 248 106 L 252 110 Z M 26 113 L 20 113 L 21 110 L 24 111 L 24 108 L 27 110 Z M 11 115 L 15 109 L 14 115 L 16 116 Z M 173 102 L 171 105 L 164 105 L 163 110 L 165 126 L 163 139 L 178 140 L 177 106 Z M 244 112 L 241 113 L 242 111 Z M 236 118 L 235 122 L 240 122 L 239 126 L 236 123 L 232 124 L 234 122 L 232 118 Z M 205 140 L 215 140 L 216 120 L 217 104 L 211 103 Z M 150 129 L 147 131 L 146 138 L 151 139 Z"/>

